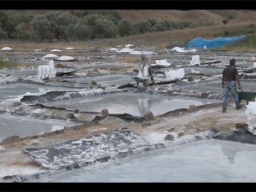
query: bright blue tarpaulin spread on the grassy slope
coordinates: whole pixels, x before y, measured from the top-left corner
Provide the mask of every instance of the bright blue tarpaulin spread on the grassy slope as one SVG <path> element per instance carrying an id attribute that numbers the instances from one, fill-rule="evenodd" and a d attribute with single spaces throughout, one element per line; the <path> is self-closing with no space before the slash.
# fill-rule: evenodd
<path id="1" fill-rule="evenodd" d="M 217 48 L 224 44 L 231 43 L 233 41 L 238 41 L 241 38 L 245 38 L 246 35 L 236 36 L 236 37 L 225 37 L 225 38 L 194 38 L 186 47 L 189 48 Z"/>

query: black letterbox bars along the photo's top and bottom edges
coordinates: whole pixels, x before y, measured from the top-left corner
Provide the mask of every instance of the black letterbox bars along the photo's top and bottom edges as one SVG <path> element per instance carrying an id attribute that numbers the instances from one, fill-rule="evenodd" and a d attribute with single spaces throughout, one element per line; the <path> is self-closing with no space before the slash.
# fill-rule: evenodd
<path id="1" fill-rule="evenodd" d="M 256 0 L 4 0 L 1 9 L 255 9 Z M 254 171 L 252 169 L 252 171 Z M 0 191 L 256 191 L 255 183 L 0 183 Z"/>

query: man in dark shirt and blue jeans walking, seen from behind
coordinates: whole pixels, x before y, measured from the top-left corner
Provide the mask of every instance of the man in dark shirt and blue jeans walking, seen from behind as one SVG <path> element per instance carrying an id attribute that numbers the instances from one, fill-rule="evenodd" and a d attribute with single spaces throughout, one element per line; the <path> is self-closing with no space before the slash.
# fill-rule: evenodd
<path id="1" fill-rule="evenodd" d="M 222 88 L 224 88 L 222 100 L 223 113 L 226 112 L 230 92 L 234 98 L 236 109 L 241 108 L 241 104 L 237 96 L 236 83 L 238 84 L 238 89 L 241 90 L 240 79 L 236 68 L 236 59 L 231 59 L 230 66 L 225 67 L 222 73 Z"/>

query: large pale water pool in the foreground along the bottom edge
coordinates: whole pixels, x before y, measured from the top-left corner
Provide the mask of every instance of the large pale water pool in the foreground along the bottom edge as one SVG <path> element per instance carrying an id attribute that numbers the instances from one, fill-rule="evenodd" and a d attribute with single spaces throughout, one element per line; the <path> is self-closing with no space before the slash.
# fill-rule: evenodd
<path id="1" fill-rule="evenodd" d="M 207 140 L 55 172 L 36 182 L 255 182 L 256 146 Z"/>

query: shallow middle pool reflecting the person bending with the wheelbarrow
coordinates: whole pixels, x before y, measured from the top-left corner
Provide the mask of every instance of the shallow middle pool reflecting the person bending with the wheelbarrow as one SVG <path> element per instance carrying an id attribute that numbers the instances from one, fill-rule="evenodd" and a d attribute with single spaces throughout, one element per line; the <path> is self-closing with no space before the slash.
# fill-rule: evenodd
<path id="1" fill-rule="evenodd" d="M 177 108 L 189 108 L 189 105 L 199 106 L 211 102 L 219 101 L 140 93 L 114 93 L 101 96 L 84 96 L 65 102 L 44 102 L 44 105 L 67 109 L 77 108 L 85 112 L 101 112 L 102 109 L 106 108 L 109 113 L 130 113 L 132 115 L 143 116 L 149 111 L 154 115 L 159 115 Z"/>

